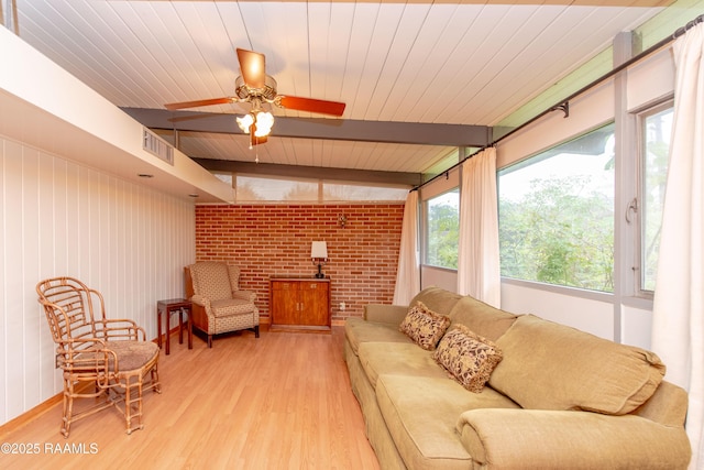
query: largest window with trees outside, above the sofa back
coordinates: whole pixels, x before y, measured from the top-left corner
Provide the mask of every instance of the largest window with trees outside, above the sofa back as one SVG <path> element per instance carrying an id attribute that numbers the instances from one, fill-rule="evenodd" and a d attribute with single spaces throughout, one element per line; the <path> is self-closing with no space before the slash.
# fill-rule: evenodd
<path id="1" fill-rule="evenodd" d="M 614 124 L 498 173 L 502 275 L 614 291 Z"/>

